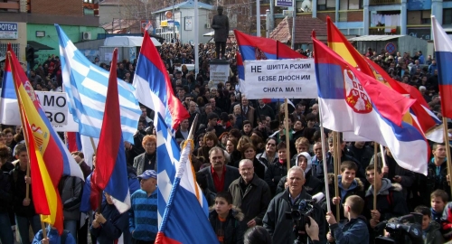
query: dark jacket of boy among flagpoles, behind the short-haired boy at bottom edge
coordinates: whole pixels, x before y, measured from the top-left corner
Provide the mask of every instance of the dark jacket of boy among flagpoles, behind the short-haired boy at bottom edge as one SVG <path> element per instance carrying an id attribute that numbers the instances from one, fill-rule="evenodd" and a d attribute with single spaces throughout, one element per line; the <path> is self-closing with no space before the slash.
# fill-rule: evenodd
<path id="1" fill-rule="evenodd" d="M 333 175 L 334 176 L 334 175 Z M 338 176 L 337 179 L 338 182 L 338 188 L 339 188 L 339 197 L 341 197 L 341 202 L 339 204 L 339 211 L 341 212 L 341 220 L 346 219 L 347 217 L 344 216 L 344 208 L 342 207 L 342 204 L 345 202 L 345 199 L 351 195 L 358 195 L 361 198 L 364 199 L 364 184 L 360 180 L 360 178 L 354 178 L 353 183 L 348 187 L 348 189 L 344 189 L 344 186 L 342 184 L 342 175 Z M 333 204 L 333 197 L 335 196 L 334 191 L 334 183 L 331 183 L 328 185 L 328 188 L 330 190 L 330 198 L 331 198 L 331 211 L 333 211 L 334 216 L 336 216 L 336 207 Z M 323 204 L 324 211 L 326 211 L 326 202 Z"/>

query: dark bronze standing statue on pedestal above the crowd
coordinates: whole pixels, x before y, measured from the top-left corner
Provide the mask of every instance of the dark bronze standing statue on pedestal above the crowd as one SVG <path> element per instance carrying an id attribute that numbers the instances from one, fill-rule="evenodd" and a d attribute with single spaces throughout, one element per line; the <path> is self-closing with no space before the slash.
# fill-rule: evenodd
<path id="1" fill-rule="evenodd" d="M 217 7 L 218 14 L 213 16 L 212 28 L 214 30 L 213 41 L 215 41 L 216 58 L 220 59 L 220 45 L 221 58 L 225 59 L 224 52 L 226 51 L 226 40 L 229 36 L 229 19 L 228 16 L 223 15 L 223 7 Z"/>

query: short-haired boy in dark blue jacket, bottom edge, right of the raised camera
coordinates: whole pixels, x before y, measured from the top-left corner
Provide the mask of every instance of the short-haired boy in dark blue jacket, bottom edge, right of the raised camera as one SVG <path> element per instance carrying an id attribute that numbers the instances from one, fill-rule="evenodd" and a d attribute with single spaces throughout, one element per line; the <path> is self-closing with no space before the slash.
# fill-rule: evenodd
<path id="1" fill-rule="evenodd" d="M 348 222 L 340 225 L 334 218 L 332 211 L 326 213 L 326 221 L 330 225 L 332 234 L 328 234 L 328 241 L 335 240 L 336 244 L 341 243 L 369 243 L 369 230 L 367 230 L 366 220 L 360 216 L 364 208 L 364 200 L 358 195 L 351 195 L 345 199 L 343 204 L 344 215 Z"/>

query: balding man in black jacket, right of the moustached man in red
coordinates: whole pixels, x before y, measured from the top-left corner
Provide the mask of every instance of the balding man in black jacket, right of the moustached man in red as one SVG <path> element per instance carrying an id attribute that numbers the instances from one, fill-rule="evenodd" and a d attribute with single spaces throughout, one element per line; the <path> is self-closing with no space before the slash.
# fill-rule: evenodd
<path id="1" fill-rule="evenodd" d="M 253 162 L 250 159 L 242 159 L 239 163 L 240 178 L 233 181 L 229 187 L 232 195 L 232 204 L 239 207 L 245 214 L 242 223 L 246 228 L 262 225 L 262 218 L 271 200 L 271 192 L 268 184 L 254 174 Z"/>

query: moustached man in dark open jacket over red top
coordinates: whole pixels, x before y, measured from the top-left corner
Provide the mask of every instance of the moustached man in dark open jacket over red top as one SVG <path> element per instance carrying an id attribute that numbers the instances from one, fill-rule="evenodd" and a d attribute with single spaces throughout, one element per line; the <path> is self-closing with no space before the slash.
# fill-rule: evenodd
<path id="1" fill-rule="evenodd" d="M 227 192 L 231 183 L 240 177 L 239 170 L 225 165 L 224 151 L 218 146 L 209 151 L 209 160 L 212 165 L 199 171 L 207 179 L 207 188 L 214 193 Z"/>

